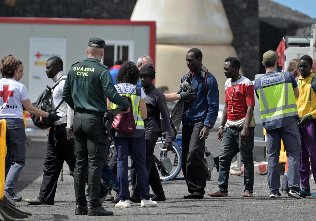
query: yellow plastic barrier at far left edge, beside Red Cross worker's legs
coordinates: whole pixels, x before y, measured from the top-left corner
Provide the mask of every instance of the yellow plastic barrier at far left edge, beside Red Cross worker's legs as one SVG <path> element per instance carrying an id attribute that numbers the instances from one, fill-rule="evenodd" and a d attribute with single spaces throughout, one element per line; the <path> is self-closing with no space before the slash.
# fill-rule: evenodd
<path id="1" fill-rule="evenodd" d="M 7 155 L 7 145 L 5 143 L 5 132 L 7 127 L 7 121 L 0 120 L 0 200 L 4 195 L 4 167 L 5 167 L 5 155 Z"/>

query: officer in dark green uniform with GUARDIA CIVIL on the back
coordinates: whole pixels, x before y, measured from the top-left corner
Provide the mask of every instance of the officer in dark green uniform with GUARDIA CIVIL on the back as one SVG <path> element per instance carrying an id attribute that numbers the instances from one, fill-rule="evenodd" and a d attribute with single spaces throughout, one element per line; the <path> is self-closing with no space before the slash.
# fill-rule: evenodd
<path id="1" fill-rule="evenodd" d="M 107 111 L 106 98 L 120 106 L 129 106 L 129 102 L 117 93 L 108 67 L 100 63 L 104 49 L 104 40 L 91 38 L 87 49 L 88 57 L 72 65 L 64 85 L 63 99 L 75 110 L 73 131 L 76 215 L 113 215 L 113 212 L 106 211 L 100 204 L 102 167 L 109 146 L 102 121 Z M 128 111 L 130 108 L 126 110 Z M 89 207 L 85 197 L 87 174 Z"/>

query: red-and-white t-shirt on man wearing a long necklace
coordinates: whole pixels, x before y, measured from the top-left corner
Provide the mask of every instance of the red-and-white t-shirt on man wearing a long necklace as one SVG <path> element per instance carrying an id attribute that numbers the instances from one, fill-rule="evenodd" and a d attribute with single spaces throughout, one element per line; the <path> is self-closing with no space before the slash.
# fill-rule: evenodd
<path id="1" fill-rule="evenodd" d="M 235 85 L 233 112 L 231 112 L 232 102 L 229 96 L 232 97 Z M 241 76 L 240 79 L 235 82 L 231 82 L 229 78 L 225 83 L 225 103 L 228 104 L 227 120 L 231 122 L 230 126 L 234 124 L 234 122 L 238 122 L 238 126 L 241 126 L 240 120 L 243 119 L 243 123 L 246 120 L 247 107 L 255 105 L 255 94 L 252 82 L 244 76 Z"/>

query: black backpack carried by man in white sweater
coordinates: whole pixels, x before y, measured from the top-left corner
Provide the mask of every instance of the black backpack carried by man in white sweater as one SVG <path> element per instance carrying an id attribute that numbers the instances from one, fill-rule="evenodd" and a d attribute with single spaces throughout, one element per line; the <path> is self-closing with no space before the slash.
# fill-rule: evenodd
<path id="1" fill-rule="evenodd" d="M 50 99 L 52 97 L 52 90 L 59 84 L 60 81 L 64 81 L 66 78 L 62 78 L 59 81 L 56 82 L 54 87 L 46 86 L 46 89 L 40 94 L 38 99 L 32 104 L 33 107 L 40 109 L 41 111 L 45 112 L 53 112 L 57 111 L 59 106 L 64 102 L 64 99 L 61 100 L 61 102 L 57 105 L 55 109 L 52 108 L 52 104 L 50 102 Z M 41 116 L 34 116 L 31 114 L 31 119 L 33 121 L 33 124 L 40 128 L 40 129 L 47 129 L 53 126 L 54 121 L 48 119 L 48 117 L 41 117 Z"/>

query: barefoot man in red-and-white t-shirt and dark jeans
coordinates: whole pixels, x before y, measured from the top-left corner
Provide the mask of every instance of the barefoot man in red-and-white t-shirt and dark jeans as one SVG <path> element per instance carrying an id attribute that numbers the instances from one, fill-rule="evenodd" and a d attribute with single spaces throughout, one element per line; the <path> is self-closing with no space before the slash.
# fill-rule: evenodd
<path id="1" fill-rule="evenodd" d="M 228 196 L 228 176 L 230 162 L 240 152 L 240 160 L 245 166 L 245 191 L 243 197 L 252 197 L 253 191 L 253 138 L 256 126 L 253 117 L 255 105 L 252 82 L 239 74 L 240 60 L 228 57 L 224 63 L 224 74 L 228 78 L 225 83 L 225 106 L 222 124 L 217 133 L 222 140 L 219 155 L 218 188 L 212 197 Z"/>

